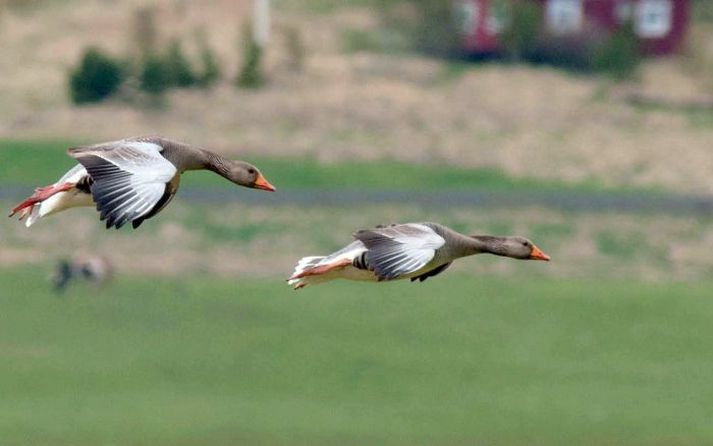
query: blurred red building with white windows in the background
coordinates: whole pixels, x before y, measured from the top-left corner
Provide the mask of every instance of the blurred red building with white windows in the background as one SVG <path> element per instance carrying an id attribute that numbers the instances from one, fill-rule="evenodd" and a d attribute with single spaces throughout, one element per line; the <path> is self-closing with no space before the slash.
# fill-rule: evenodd
<path id="1" fill-rule="evenodd" d="M 507 26 L 510 7 L 522 1 L 540 6 L 543 32 L 549 36 L 606 36 L 631 22 L 643 52 L 655 55 L 675 53 L 683 47 L 690 13 L 689 0 L 458 1 L 465 47 L 473 53 L 500 50 L 498 35 Z"/>

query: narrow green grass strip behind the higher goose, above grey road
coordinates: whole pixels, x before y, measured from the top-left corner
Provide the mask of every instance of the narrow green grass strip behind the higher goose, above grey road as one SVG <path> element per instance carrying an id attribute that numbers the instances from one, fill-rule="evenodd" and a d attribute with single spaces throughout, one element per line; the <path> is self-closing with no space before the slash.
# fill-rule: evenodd
<path id="1" fill-rule="evenodd" d="M 45 185 L 57 181 L 74 164 L 68 141 L 0 140 L 0 183 Z M 319 163 L 312 158 L 265 158 L 247 156 L 279 190 L 325 189 L 473 189 L 519 191 L 604 191 L 594 182 L 569 184 L 532 178 L 516 179 L 494 169 L 464 169 L 456 166 L 417 165 L 392 160 Z M 364 172 L 368 172 L 365 175 Z M 233 187 L 208 172 L 182 179 L 188 186 Z M 615 192 L 611 191 L 610 192 Z"/>

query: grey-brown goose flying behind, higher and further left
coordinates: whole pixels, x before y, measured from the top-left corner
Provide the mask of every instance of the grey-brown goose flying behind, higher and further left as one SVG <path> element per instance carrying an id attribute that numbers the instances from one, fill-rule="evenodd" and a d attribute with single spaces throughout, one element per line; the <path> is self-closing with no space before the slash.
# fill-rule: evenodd
<path id="1" fill-rule="evenodd" d="M 36 189 L 10 217 L 26 218 L 29 227 L 65 209 L 96 206 L 107 229 L 129 222 L 138 228 L 173 199 L 187 170 L 210 170 L 240 186 L 275 190 L 252 164 L 158 136 L 76 147 L 68 153 L 79 164 L 56 183 Z"/>

